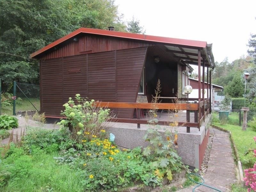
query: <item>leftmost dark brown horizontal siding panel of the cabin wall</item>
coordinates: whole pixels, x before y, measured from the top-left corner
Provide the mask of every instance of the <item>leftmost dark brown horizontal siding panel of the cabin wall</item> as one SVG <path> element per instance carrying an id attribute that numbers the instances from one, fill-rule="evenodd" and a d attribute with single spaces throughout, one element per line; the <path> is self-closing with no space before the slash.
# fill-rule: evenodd
<path id="1" fill-rule="evenodd" d="M 42 61 L 42 111 L 46 116 L 60 116 L 63 105 L 62 58 Z"/>

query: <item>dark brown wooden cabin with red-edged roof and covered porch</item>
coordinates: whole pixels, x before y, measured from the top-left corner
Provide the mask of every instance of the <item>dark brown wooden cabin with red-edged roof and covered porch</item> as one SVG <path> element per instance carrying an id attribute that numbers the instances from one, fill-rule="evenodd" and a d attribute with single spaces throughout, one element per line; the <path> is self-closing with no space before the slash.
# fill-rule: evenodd
<path id="1" fill-rule="evenodd" d="M 197 65 L 199 74 L 203 66 L 203 78 L 206 68 L 207 81 L 211 79 L 209 68 L 214 68 L 212 44 L 203 41 L 92 28 L 77 29 L 30 57 L 40 60 L 40 110 L 47 117 L 61 117 L 62 105 L 77 93 L 113 103 L 136 103 L 142 95 L 144 102 L 150 103 L 158 79 L 162 103 L 171 103 L 170 98 L 177 93 L 182 100 L 187 97 L 183 88 L 193 70 L 190 65 Z M 201 84 L 198 86 L 201 89 Z M 199 92 L 198 101 L 205 99 Z M 199 122 L 202 111 L 211 110 L 209 104 L 203 108 L 207 102 L 211 101 L 197 104 Z M 191 107 L 184 106 L 180 109 Z M 134 115 L 132 107 L 115 112 L 118 118 L 131 119 Z"/>

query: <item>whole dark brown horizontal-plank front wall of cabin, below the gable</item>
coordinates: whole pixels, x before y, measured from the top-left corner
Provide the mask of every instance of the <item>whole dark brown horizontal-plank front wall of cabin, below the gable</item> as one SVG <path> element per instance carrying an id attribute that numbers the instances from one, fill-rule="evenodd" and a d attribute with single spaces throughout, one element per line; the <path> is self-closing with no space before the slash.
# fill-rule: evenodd
<path id="1" fill-rule="evenodd" d="M 100 101 L 136 102 L 147 47 L 76 55 L 41 62 L 42 108 L 46 116 L 60 116 L 63 104 L 79 93 Z M 120 109 L 119 118 L 131 118 Z"/>

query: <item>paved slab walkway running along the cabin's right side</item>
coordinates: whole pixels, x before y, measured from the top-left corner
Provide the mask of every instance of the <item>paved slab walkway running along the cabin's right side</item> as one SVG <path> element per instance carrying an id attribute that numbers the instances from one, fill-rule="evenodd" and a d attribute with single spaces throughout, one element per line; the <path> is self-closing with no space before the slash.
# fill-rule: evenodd
<path id="1" fill-rule="evenodd" d="M 213 133 L 213 142 L 208 168 L 206 174 L 203 176 L 204 184 L 223 192 L 230 191 L 230 185 L 236 183 L 237 179 L 229 135 L 226 132 L 214 128 L 210 128 L 210 131 Z M 191 192 L 193 188 L 194 186 L 181 189 L 179 192 Z M 204 186 L 196 188 L 195 191 L 216 192 L 216 190 Z"/>

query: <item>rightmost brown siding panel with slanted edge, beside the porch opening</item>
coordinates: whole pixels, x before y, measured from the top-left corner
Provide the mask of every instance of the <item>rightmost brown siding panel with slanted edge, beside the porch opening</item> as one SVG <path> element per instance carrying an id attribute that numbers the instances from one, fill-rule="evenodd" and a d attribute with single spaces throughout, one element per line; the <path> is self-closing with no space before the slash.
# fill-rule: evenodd
<path id="1" fill-rule="evenodd" d="M 116 52 L 117 102 L 136 102 L 147 47 Z M 132 109 L 118 109 L 119 118 L 131 118 Z"/>

